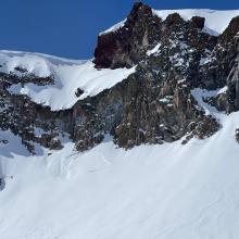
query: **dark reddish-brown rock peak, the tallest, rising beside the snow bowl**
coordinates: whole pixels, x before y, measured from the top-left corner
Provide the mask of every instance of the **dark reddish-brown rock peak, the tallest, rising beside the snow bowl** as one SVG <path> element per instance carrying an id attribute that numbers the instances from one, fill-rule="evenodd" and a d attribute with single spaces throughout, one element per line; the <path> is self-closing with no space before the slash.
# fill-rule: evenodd
<path id="1" fill-rule="evenodd" d="M 131 67 L 146 54 L 146 49 L 160 38 L 161 20 L 142 3 L 135 3 L 122 28 L 98 37 L 96 67 Z"/>

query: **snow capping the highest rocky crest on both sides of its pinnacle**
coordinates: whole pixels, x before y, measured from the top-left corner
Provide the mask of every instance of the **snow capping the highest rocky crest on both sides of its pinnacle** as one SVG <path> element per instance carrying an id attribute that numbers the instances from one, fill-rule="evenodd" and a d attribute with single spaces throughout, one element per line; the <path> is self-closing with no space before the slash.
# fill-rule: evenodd
<path id="1" fill-rule="evenodd" d="M 192 16 L 205 17 L 204 30 L 212 35 L 221 35 L 228 26 L 230 20 L 239 15 L 239 10 L 210 10 L 210 9 L 183 9 L 183 10 L 153 10 L 153 13 L 165 20 L 168 14 L 178 13 L 184 20 L 188 21 Z M 124 26 L 126 20 L 115 24 L 100 35 L 115 32 Z"/>

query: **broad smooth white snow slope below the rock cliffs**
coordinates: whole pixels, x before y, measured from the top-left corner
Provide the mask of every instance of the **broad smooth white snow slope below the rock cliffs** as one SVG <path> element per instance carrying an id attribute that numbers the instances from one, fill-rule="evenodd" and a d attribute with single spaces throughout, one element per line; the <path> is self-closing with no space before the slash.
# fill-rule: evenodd
<path id="1" fill-rule="evenodd" d="M 217 92 L 193 93 L 202 105 Z M 109 138 L 85 153 L 66 141 L 29 156 L 0 133 L 0 238 L 239 238 L 239 112 L 216 116 L 223 127 L 205 140 L 127 151 Z"/>

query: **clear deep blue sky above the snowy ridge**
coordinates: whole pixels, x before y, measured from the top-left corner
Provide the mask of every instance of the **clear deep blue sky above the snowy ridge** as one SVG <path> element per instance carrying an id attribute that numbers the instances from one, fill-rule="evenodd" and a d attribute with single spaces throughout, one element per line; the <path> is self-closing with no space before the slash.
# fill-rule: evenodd
<path id="1" fill-rule="evenodd" d="M 0 49 L 88 59 L 99 32 L 125 18 L 133 0 L 1 1 Z M 146 0 L 154 9 L 239 9 L 238 0 Z"/>

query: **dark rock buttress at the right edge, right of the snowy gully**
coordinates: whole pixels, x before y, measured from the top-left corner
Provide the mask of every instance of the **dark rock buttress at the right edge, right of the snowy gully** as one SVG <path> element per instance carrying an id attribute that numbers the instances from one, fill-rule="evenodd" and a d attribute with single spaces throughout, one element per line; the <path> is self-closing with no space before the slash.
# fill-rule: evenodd
<path id="1" fill-rule="evenodd" d="M 225 93 L 212 99 L 218 110 L 231 113 L 239 110 L 239 16 L 234 17 L 200 70 L 211 89 L 227 87 Z"/>

